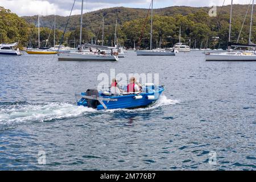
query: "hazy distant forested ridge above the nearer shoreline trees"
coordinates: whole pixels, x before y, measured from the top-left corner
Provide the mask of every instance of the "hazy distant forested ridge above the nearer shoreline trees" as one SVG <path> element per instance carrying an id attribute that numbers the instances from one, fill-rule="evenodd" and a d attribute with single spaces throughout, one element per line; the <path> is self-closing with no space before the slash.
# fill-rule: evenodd
<path id="1" fill-rule="evenodd" d="M 174 16 L 174 15 L 188 15 L 195 14 L 197 11 L 204 11 L 208 13 L 210 7 L 188 7 L 188 6 L 172 6 L 165 7 L 162 9 L 154 9 L 155 15 L 161 16 Z M 247 5 L 233 5 L 233 18 L 243 18 L 247 10 Z M 84 27 L 89 30 L 98 30 L 100 23 L 102 21 L 102 16 L 104 16 L 105 25 L 111 25 L 118 20 L 118 24 L 123 24 L 127 21 L 145 18 L 148 9 L 135 9 L 127 7 L 113 7 L 109 9 L 101 9 L 97 11 L 92 11 L 90 13 L 84 14 Z M 230 11 L 230 6 L 217 7 L 217 13 L 221 15 L 228 15 Z M 28 23 L 34 24 L 38 15 L 34 16 L 22 16 Z M 42 22 L 41 26 L 51 28 L 54 20 L 54 15 L 43 16 L 40 18 Z M 68 16 L 56 16 L 56 28 L 59 30 L 64 30 L 67 24 Z M 72 15 L 68 30 L 75 30 L 80 25 L 80 15 Z"/>

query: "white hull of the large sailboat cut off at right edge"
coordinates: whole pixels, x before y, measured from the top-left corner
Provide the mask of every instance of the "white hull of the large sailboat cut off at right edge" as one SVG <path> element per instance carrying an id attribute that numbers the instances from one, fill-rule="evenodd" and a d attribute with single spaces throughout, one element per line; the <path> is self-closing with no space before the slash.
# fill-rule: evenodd
<path id="1" fill-rule="evenodd" d="M 206 61 L 256 61 L 256 55 L 205 54 Z"/>

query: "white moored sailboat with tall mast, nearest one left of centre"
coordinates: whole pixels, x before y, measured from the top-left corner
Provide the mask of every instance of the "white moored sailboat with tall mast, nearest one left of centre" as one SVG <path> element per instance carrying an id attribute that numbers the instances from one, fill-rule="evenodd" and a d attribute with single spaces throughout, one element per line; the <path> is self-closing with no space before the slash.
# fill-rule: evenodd
<path id="1" fill-rule="evenodd" d="M 63 52 L 58 53 L 58 60 L 69 60 L 69 61 L 118 61 L 118 56 L 113 53 L 105 53 L 104 51 L 98 52 L 82 52 L 82 10 L 84 0 L 82 0 L 81 7 L 81 22 L 80 22 L 80 48 L 79 52 Z M 102 46 L 103 46 L 104 31 L 102 30 Z"/>

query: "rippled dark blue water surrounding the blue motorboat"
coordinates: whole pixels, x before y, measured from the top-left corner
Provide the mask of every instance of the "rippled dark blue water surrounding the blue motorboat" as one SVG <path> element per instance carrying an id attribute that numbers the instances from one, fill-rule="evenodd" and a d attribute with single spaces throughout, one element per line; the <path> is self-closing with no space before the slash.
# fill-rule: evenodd
<path id="1" fill-rule="evenodd" d="M 76 106 L 74 94 L 110 68 L 159 73 L 164 96 L 135 110 Z M 255 62 L 207 62 L 199 52 L 131 51 L 118 62 L 0 57 L 0 170 L 255 169 L 255 78 Z"/>

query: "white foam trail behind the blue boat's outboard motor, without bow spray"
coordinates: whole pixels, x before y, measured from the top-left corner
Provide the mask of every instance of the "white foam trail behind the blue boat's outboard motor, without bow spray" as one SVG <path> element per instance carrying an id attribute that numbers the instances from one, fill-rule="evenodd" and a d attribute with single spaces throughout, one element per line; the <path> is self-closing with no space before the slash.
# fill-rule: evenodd
<path id="1" fill-rule="evenodd" d="M 95 109 L 67 103 L 47 103 L 44 105 L 12 105 L 0 110 L 0 123 L 43 122 L 51 119 L 79 117 Z"/>

